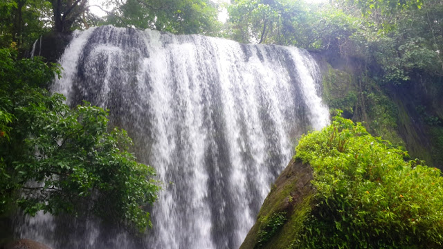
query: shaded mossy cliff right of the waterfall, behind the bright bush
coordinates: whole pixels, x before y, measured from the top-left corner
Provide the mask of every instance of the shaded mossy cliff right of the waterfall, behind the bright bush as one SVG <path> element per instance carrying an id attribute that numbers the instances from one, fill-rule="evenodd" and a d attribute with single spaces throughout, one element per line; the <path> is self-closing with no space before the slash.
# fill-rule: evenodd
<path id="1" fill-rule="evenodd" d="M 381 68 L 357 58 L 311 53 L 322 72 L 322 99 L 343 117 L 363 122 L 372 136 L 405 148 L 411 158 L 443 169 L 442 77 L 417 73 L 407 82 L 383 82 Z"/>

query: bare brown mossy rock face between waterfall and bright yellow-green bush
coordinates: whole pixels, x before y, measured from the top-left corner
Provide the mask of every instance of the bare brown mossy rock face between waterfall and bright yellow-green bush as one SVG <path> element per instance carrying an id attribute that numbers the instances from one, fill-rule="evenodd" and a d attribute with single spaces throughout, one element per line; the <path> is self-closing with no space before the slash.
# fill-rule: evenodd
<path id="1" fill-rule="evenodd" d="M 240 249 L 288 248 L 311 210 L 312 168 L 292 159 L 271 187 Z"/>

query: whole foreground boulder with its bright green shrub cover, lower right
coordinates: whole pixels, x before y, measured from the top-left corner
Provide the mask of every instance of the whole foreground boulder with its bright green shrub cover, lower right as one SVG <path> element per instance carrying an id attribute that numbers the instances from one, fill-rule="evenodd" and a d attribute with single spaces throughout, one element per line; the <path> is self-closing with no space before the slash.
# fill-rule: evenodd
<path id="1" fill-rule="evenodd" d="M 443 177 L 407 158 L 336 116 L 302 137 L 241 248 L 443 248 Z"/>

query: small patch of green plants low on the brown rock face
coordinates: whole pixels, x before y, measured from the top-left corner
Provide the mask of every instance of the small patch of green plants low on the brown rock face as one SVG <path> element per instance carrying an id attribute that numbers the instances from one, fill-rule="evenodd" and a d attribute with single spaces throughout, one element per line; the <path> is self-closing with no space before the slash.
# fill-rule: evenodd
<path id="1" fill-rule="evenodd" d="M 277 212 L 269 216 L 265 221 L 262 221 L 262 225 L 260 225 L 260 230 L 257 234 L 257 244 L 255 248 L 262 248 L 262 246 L 282 228 L 287 221 L 286 215 L 286 212 Z"/>

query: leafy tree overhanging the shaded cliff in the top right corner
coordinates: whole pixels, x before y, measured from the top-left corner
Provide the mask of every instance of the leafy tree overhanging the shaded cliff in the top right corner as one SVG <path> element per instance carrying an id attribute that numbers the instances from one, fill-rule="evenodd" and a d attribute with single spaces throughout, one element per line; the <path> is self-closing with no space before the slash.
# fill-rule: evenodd
<path id="1" fill-rule="evenodd" d="M 401 84 L 413 75 L 442 76 L 443 4 L 441 1 L 337 2 L 348 15 L 361 16 L 350 37 L 353 54 L 383 70 L 383 82 Z"/>

